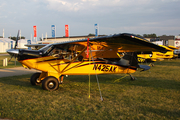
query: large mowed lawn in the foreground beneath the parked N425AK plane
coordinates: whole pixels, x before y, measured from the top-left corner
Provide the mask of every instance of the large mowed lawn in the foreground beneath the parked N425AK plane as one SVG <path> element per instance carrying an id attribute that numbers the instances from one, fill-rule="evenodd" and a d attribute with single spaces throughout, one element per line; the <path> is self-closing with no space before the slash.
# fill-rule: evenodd
<path id="1" fill-rule="evenodd" d="M 180 119 L 180 60 L 155 62 L 137 78 L 98 75 L 69 76 L 57 91 L 30 84 L 31 75 L 0 78 L 0 118 L 57 119 Z"/>

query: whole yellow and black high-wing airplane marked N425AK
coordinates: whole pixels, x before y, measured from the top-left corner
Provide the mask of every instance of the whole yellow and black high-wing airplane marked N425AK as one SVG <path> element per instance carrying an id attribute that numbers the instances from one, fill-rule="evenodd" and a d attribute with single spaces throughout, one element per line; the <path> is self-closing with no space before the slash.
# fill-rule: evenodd
<path id="1" fill-rule="evenodd" d="M 31 76 L 32 85 L 42 83 L 43 89 L 56 90 L 64 75 L 131 74 L 137 68 L 148 70 L 149 66 L 138 65 L 135 52 L 164 50 L 144 38 L 123 33 L 48 44 L 39 50 L 11 49 L 7 52 L 17 56 L 24 67 L 42 71 Z M 125 54 L 120 56 L 119 52 Z"/>

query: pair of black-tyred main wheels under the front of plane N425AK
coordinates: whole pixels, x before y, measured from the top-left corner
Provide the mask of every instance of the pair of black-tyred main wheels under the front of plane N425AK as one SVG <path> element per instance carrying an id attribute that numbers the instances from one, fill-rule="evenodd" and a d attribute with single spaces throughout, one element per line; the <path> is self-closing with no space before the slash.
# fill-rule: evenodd
<path id="1" fill-rule="evenodd" d="M 53 77 L 53 76 L 48 76 L 45 77 L 43 80 L 40 80 L 41 73 L 37 72 L 34 73 L 31 76 L 30 82 L 32 85 L 41 85 L 42 83 L 42 88 L 44 90 L 49 90 L 49 91 L 54 91 L 57 90 L 59 88 L 59 84 L 62 84 L 63 79 L 64 79 L 64 75 L 60 76 L 60 80 L 58 81 L 57 78 Z"/>

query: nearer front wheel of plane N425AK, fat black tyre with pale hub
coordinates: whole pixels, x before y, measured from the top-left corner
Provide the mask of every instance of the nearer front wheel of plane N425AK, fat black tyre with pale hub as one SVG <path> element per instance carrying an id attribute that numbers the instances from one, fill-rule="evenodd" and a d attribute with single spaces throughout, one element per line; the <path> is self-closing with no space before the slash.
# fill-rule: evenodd
<path id="1" fill-rule="evenodd" d="M 46 77 L 42 82 L 42 88 L 49 91 L 57 90 L 59 88 L 59 82 L 53 76 Z"/>

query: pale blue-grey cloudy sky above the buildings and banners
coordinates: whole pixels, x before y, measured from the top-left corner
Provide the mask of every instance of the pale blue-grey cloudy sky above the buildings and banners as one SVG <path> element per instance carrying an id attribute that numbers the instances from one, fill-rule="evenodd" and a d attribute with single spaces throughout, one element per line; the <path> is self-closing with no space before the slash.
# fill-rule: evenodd
<path id="1" fill-rule="evenodd" d="M 33 26 L 37 38 L 51 37 L 51 25 L 56 25 L 56 37 L 118 33 L 179 35 L 180 0 L 0 0 L 0 36 L 21 36 L 31 39 Z"/>

